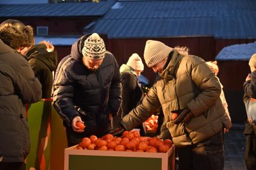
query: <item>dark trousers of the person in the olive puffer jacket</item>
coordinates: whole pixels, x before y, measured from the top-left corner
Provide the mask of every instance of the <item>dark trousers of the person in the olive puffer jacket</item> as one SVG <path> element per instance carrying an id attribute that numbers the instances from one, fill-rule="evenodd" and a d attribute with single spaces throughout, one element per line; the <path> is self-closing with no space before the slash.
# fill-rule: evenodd
<path id="1" fill-rule="evenodd" d="M 223 132 L 177 151 L 178 168 L 181 170 L 224 169 Z"/>

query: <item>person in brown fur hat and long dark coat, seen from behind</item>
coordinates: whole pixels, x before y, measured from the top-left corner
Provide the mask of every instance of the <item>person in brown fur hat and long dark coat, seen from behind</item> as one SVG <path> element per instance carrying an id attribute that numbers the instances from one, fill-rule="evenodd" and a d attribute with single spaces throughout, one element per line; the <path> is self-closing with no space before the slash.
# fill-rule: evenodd
<path id="1" fill-rule="evenodd" d="M 0 25 L 0 169 L 21 169 L 30 150 L 25 104 L 41 99 L 41 84 L 25 53 L 33 44 L 31 26 L 18 20 Z"/>

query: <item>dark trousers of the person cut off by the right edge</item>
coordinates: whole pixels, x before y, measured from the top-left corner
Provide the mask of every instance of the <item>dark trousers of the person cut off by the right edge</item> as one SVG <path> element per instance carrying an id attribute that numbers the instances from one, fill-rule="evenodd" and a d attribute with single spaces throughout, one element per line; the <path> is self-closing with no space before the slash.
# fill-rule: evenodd
<path id="1" fill-rule="evenodd" d="M 256 169 L 256 137 L 255 134 L 246 135 L 245 164 L 248 170 Z"/>

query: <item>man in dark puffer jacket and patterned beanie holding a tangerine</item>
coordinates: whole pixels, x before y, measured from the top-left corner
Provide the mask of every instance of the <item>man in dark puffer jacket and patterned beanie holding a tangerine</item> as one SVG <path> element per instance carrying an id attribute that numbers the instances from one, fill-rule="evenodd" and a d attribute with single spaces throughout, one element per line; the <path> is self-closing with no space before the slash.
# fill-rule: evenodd
<path id="1" fill-rule="evenodd" d="M 72 45 L 58 68 L 53 105 L 64 120 L 69 146 L 90 135 L 105 135 L 121 104 L 117 61 L 98 34 L 84 35 Z M 79 108 L 79 109 L 78 109 Z M 76 122 L 85 124 L 81 130 Z"/>

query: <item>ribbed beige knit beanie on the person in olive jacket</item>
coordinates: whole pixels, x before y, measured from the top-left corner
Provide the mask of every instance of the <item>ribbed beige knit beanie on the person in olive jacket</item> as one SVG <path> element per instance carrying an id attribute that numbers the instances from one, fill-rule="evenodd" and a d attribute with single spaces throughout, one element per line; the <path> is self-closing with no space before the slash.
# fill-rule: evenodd
<path id="1" fill-rule="evenodd" d="M 144 59 L 148 67 L 161 62 L 172 51 L 171 47 L 160 41 L 148 40 L 145 45 Z"/>

